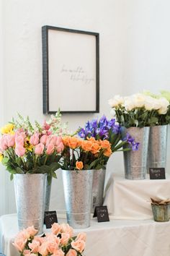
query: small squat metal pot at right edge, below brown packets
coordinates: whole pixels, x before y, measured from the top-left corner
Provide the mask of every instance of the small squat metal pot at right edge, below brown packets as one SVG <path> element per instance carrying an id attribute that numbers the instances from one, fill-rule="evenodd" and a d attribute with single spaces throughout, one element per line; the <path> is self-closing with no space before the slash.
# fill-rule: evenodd
<path id="1" fill-rule="evenodd" d="M 169 221 L 169 205 L 151 204 L 154 221 Z"/>

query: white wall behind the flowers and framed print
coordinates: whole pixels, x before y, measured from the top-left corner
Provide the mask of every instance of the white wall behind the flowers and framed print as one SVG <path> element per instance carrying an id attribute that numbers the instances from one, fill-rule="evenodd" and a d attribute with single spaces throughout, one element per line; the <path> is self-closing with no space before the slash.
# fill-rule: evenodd
<path id="1" fill-rule="evenodd" d="M 4 56 L 0 58 L 1 123 L 9 121 L 17 111 L 32 120 L 46 118 L 42 114 L 42 25 L 100 34 L 100 115 L 110 117 L 107 100 L 117 93 L 170 88 L 169 0 L 0 0 L 0 3 L 3 12 L 0 54 Z M 68 121 L 74 130 L 94 116 L 97 114 L 67 114 L 63 115 L 63 121 Z M 170 143 L 168 155 L 169 151 Z M 122 154 L 116 154 L 117 157 L 112 155 L 107 171 L 123 168 Z M 62 209 L 62 181 L 61 174 L 58 175 L 58 180 L 53 181 L 51 205 Z M 4 170 L 0 182 L 1 195 L 6 192 L 0 213 L 12 213 L 14 187 L 7 173 L 4 177 Z"/>

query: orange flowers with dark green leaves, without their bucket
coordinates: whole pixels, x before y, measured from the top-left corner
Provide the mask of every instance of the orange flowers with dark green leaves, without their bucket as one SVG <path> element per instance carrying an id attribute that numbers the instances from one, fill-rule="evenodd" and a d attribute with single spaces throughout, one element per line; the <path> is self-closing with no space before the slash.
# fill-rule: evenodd
<path id="1" fill-rule="evenodd" d="M 112 154 L 108 140 L 95 140 L 94 137 L 81 140 L 71 136 L 62 140 L 61 168 L 64 170 L 99 169 L 104 166 L 104 159 Z"/>

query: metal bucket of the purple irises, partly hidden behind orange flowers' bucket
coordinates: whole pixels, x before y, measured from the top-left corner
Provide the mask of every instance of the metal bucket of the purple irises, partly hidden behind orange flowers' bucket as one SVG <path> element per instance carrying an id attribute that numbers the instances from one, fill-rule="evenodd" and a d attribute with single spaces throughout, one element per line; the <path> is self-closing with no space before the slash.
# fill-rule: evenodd
<path id="1" fill-rule="evenodd" d="M 91 213 L 94 213 L 94 209 L 96 206 L 103 205 L 105 175 L 106 175 L 106 168 L 93 170 Z"/>

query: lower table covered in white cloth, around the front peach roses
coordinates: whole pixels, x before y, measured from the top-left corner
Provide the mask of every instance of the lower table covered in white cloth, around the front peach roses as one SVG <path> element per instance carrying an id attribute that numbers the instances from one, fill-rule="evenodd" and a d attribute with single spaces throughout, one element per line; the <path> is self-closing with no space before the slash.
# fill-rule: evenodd
<path id="1" fill-rule="evenodd" d="M 58 222 L 66 219 L 58 218 Z M 80 230 L 76 230 L 78 233 Z M 84 229 L 87 234 L 84 256 L 169 256 L 170 222 L 156 223 L 153 220 L 130 221 L 113 220 L 97 223 Z M 10 214 L 0 218 L 0 247 L 6 256 L 19 253 L 12 245 L 17 234 L 17 215 Z"/>

